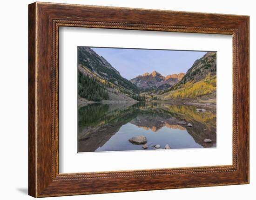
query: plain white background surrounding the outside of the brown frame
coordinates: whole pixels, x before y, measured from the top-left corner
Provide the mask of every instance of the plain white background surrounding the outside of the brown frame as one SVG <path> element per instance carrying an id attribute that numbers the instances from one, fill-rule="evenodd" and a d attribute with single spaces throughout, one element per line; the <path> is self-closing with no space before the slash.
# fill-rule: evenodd
<path id="1" fill-rule="evenodd" d="M 0 199 L 27 196 L 27 5 L 31 0 L 1 1 L 0 16 Z M 256 197 L 256 6 L 253 0 L 48 0 L 101 6 L 166 9 L 250 16 L 250 184 L 47 199 L 67 200 L 252 200 Z M 157 183 L 156 183 L 157 184 Z"/>

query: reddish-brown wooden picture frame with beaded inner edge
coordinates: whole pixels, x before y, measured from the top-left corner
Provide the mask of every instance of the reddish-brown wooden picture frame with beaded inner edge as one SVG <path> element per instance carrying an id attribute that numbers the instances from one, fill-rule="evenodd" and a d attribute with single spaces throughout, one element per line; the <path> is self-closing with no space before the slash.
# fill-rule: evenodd
<path id="1" fill-rule="evenodd" d="M 39 2 L 28 8 L 29 195 L 48 197 L 249 183 L 249 16 Z M 232 35 L 233 164 L 59 174 L 60 26 Z"/>

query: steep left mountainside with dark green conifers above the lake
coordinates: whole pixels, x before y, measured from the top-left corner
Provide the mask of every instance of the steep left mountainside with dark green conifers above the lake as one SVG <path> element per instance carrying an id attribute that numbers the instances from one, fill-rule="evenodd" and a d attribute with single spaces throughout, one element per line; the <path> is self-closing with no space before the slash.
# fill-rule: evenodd
<path id="1" fill-rule="evenodd" d="M 135 101 L 137 86 L 89 47 L 78 47 L 78 94 L 88 101 Z"/>

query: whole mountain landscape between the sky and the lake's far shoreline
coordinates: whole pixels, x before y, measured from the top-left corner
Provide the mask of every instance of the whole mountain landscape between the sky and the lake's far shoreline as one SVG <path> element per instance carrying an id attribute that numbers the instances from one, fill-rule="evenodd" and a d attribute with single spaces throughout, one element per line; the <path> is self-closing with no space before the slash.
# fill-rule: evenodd
<path id="1" fill-rule="evenodd" d="M 216 104 L 216 52 L 195 60 L 186 73 L 163 76 L 152 71 L 127 80 L 91 48 L 79 47 L 78 72 L 79 105 L 136 101 Z"/>

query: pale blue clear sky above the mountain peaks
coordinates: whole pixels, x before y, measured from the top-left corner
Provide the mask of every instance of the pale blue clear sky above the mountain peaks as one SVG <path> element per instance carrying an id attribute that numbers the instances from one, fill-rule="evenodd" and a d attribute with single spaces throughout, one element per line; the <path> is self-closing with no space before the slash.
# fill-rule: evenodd
<path id="1" fill-rule="evenodd" d="M 92 48 L 103 56 L 122 77 L 130 80 L 146 72 L 158 71 L 163 76 L 184 72 L 193 65 L 196 59 L 207 52 Z"/>

